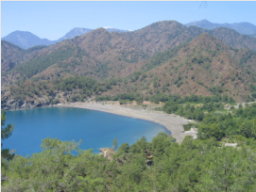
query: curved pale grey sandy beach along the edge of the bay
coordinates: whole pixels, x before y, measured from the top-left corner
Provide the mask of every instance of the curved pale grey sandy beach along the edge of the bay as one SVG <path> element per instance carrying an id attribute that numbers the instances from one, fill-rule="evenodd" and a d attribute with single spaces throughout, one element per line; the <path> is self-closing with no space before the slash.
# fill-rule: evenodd
<path id="1" fill-rule="evenodd" d="M 141 120 L 150 120 L 161 124 L 167 130 L 171 132 L 171 135 L 177 139 L 177 142 L 181 143 L 185 136 L 196 136 L 195 131 L 189 131 L 184 133 L 183 126 L 188 124 L 189 120 L 181 118 L 173 114 L 166 114 L 162 111 L 153 111 L 147 108 L 133 109 L 124 105 L 117 104 L 102 104 L 102 103 L 73 103 L 73 104 L 56 104 L 56 106 L 66 106 L 66 107 L 77 107 L 92 109 L 122 116 L 127 116 L 130 118 L 137 118 Z"/>

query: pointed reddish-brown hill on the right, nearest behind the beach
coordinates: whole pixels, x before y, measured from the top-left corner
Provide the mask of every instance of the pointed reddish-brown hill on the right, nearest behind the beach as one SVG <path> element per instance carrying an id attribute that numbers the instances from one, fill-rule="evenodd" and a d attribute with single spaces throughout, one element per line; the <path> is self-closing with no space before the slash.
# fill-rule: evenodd
<path id="1" fill-rule="evenodd" d="M 256 92 L 256 54 L 247 49 L 232 49 L 209 34 L 159 53 L 137 72 L 108 90 L 108 95 L 143 92 L 180 96 L 228 95 L 246 101 Z"/>

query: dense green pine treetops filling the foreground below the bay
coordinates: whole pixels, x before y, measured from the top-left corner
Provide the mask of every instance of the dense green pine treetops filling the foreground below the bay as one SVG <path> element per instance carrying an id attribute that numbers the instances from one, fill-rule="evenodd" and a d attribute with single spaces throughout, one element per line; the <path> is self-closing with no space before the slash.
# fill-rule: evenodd
<path id="1" fill-rule="evenodd" d="M 122 144 L 110 161 L 74 141 L 46 138 L 43 152 L 2 159 L 2 191 L 253 191 L 255 140 L 240 148 L 186 136 L 179 145 L 160 133 Z M 77 155 L 74 155 L 74 151 Z M 146 167 L 146 156 L 154 164 Z"/>

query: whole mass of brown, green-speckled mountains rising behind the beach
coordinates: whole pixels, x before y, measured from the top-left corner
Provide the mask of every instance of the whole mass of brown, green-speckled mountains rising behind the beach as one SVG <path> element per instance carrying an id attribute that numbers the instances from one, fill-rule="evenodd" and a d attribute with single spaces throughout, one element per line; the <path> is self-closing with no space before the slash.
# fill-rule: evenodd
<path id="1" fill-rule="evenodd" d="M 237 101 L 256 95 L 256 40 L 227 27 L 207 30 L 163 21 L 127 33 L 98 28 L 47 47 L 32 47 L 23 56 L 17 47 L 3 45 L 5 63 L 17 63 L 2 73 L 7 108 L 10 103 L 21 107 L 25 99 L 47 105 L 56 97 L 67 101 L 81 94 L 218 93 Z"/>

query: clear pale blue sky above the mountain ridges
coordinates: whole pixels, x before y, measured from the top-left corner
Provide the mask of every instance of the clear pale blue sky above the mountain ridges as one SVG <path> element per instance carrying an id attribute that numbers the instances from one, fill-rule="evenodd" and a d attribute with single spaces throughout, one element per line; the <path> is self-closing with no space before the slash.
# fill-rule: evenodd
<path id="1" fill-rule="evenodd" d="M 1 38 L 20 30 L 58 40 L 75 27 L 138 30 L 175 20 L 256 25 L 256 1 L 2 1 Z"/>

